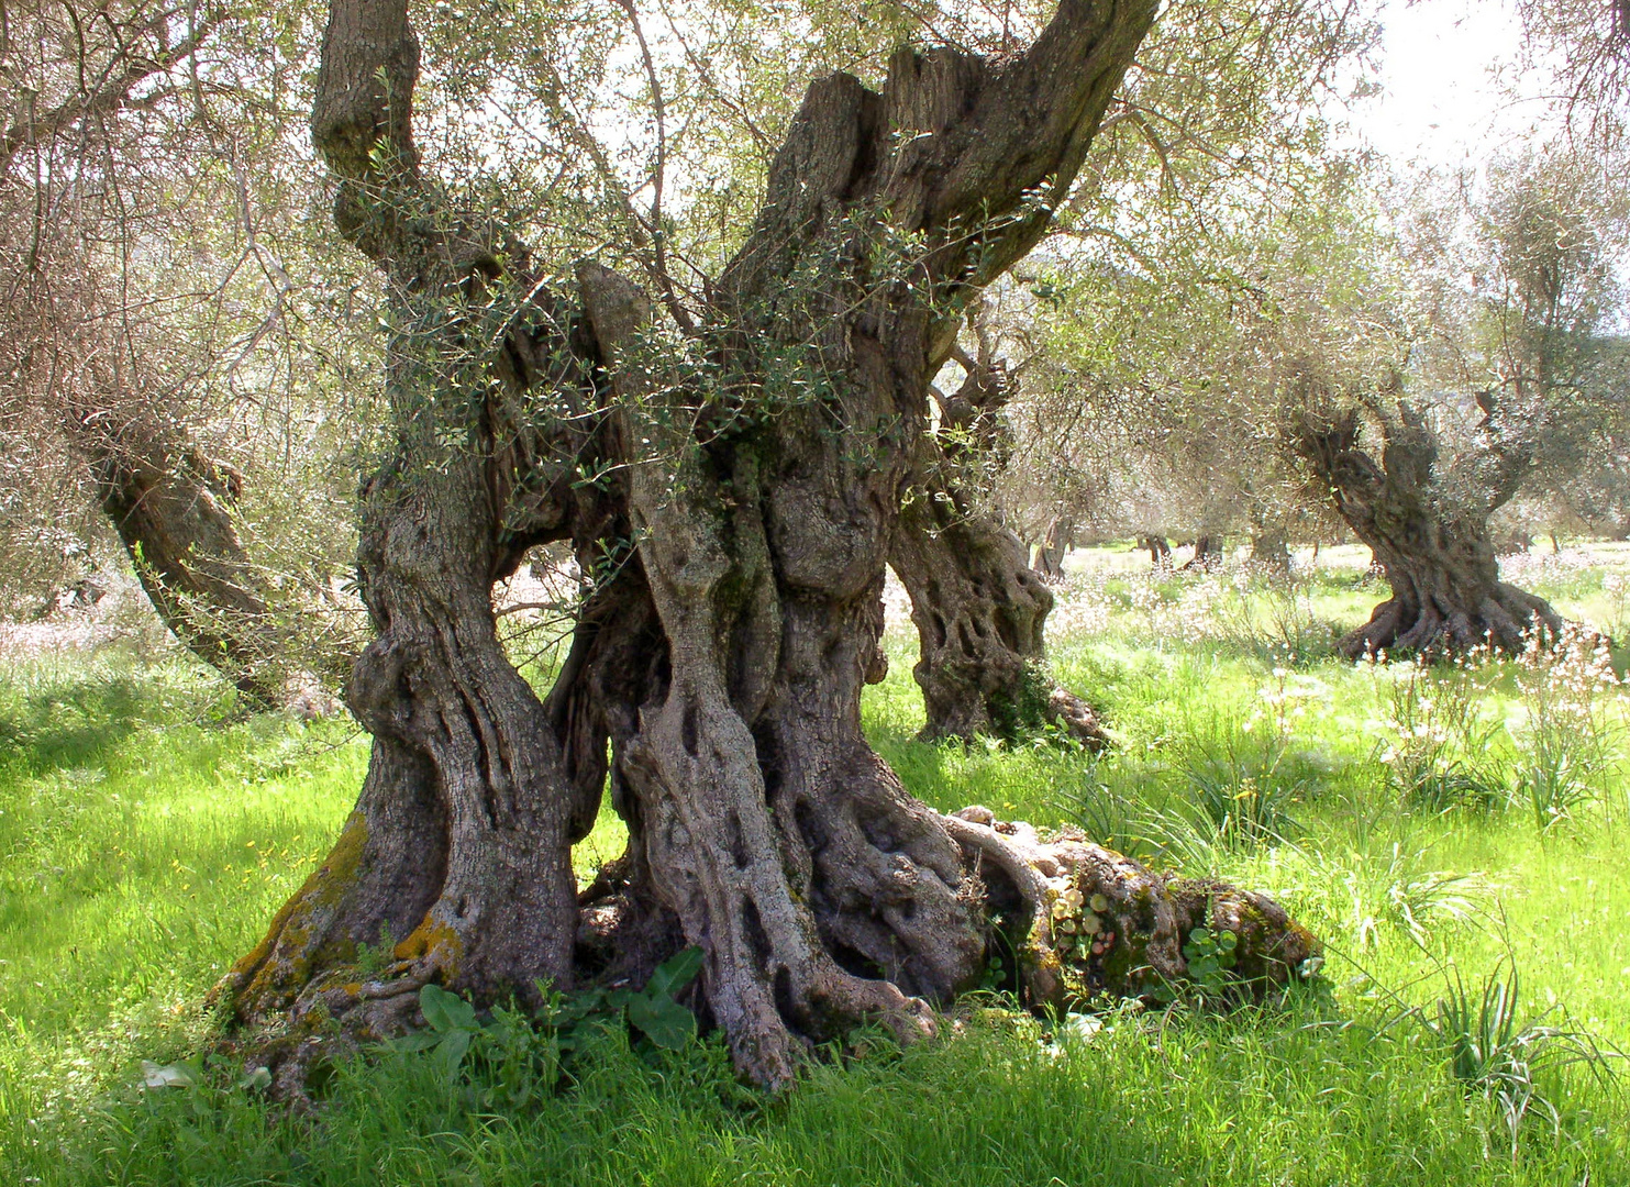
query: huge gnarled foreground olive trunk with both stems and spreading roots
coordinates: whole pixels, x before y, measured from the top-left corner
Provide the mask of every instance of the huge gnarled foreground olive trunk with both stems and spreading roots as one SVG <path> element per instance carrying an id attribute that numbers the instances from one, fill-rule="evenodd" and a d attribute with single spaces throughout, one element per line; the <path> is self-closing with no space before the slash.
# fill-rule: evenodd
<path id="1" fill-rule="evenodd" d="M 1180 980 L 1201 921 L 1262 982 L 1304 967 L 1315 941 L 1271 900 L 944 817 L 861 732 L 929 380 L 1045 230 L 1154 8 L 1064 0 L 999 60 L 900 49 L 880 90 L 815 82 L 745 241 L 704 300 L 659 308 L 450 204 L 414 142 L 406 3 L 334 3 L 313 132 L 336 223 L 390 287 L 394 448 L 362 499 L 368 774 L 220 986 L 280 1086 L 336 1029 L 411 1026 L 427 982 L 526 996 L 686 942 L 763 1084 L 857 1019 L 931 1032 L 924 1003 L 978 982 L 994 915 L 1037 1004 Z M 491 592 L 549 540 L 597 580 L 540 698 Z M 579 894 L 570 846 L 608 779 L 628 851 Z M 393 962 L 359 969 L 381 942 Z"/>

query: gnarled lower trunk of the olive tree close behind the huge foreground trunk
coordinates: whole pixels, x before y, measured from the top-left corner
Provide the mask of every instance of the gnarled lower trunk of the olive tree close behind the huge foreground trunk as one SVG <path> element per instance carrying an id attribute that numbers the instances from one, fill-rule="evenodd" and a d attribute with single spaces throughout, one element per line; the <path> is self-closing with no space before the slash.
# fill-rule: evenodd
<path id="1" fill-rule="evenodd" d="M 1046 673 L 1042 629 L 1053 594 L 1019 536 L 949 497 L 918 499 L 900 512 L 888 564 L 911 595 L 924 740 L 1014 739 L 1058 722 L 1104 745 L 1090 706 Z"/>

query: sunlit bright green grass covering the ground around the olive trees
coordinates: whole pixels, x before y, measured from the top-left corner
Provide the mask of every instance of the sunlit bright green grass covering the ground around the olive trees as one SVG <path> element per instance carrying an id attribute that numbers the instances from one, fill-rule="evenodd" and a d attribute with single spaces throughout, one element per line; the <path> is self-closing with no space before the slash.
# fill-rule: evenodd
<path id="1" fill-rule="evenodd" d="M 1081 823 L 1278 895 L 1325 938 L 1320 978 L 1227 1014 L 975 996 L 954 1039 L 857 1035 L 774 1099 L 716 1040 L 541 1024 L 456 1076 L 378 1052 L 285 1117 L 205 1058 L 202 998 L 326 853 L 365 740 L 243 719 L 176 655 L 0 652 L 0 1184 L 1630 1184 L 1614 667 L 1588 644 L 1345 664 L 1332 633 L 1384 585 L 1358 549 L 1302 561 L 1268 582 L 1076 553 L 1051 659 L 1105 713 L 1102 758 L 916 742 L 898 598 L 866 714 L 939 809 Z M 1630 636 L 1630 548 L 1508 576 Z M 580 872 L 619 840 L 605 814 Z M 147 1086 L 161 1068 L 189 1083 Z"/>

